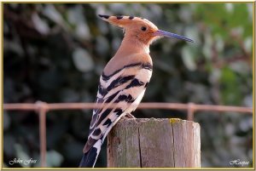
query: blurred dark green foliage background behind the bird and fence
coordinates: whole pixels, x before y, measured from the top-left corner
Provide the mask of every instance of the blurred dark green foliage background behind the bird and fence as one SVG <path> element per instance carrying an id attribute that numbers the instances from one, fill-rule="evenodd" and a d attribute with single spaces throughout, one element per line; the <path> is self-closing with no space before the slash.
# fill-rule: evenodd
<path id="1" fill-rule="evenodd" d="M 94 102 L 103 67 L 123 32 L 97 14 L 151 20 L 195 43 L 163 38 L 150 48 L 154 72 L 143 102 L 253 106 L 253 3 L 3 4 L 4 103 Z M 78 167 L 91 110 L 49 111 L 47 166 Z M 137 110 L 135 117 L 179 117 L 186 111 Z M 253 115 L 196 112 L 201 166 L 253 163 Z M 39 161 L 38 114 L 3 111 L 5 167 L 14 158 Z M 107 166 L 106 142 L 96 167 Z"/>

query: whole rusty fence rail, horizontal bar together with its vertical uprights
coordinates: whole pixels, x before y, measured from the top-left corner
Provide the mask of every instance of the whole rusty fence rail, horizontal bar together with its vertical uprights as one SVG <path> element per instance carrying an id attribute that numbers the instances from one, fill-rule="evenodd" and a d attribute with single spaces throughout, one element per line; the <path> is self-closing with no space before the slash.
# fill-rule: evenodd
<path id="1" fill-rule="evenodd" d="M 40 136 L 40 158 L 41 167 L 46 167 L 46 114 L 48 111 L 61 110 L 82 110 L 95 108 L 113 108 L 119 107 L 119 104 L 94 104 L 94 103 L 52 103 L 48 104 L 38 101 L 34 104 L 17 103 L 3 104 L 5 111 L 37 111 L 39 118 L 39 136 Z M 253 109 L 244 106 L 227 106 L 227 105 L 197 105 L 194 103 L 141 103 L 138 109 L 166 109 L 166 110 L 183 110 L 188 111 L 188 120 L 194 120 L 195 111 L 233 111 L 243 114 L 253 114 Z"/>

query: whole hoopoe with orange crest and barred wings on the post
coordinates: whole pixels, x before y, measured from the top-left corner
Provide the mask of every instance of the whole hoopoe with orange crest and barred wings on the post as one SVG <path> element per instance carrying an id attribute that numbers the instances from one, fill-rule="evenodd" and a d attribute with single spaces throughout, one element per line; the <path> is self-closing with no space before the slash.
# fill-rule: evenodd
<path id="1" fill-rule="evenodd" d="M 122 28 L 125 35 L 119 49 L 102 71 L 96 94 L 96 104 L 102 105 L 102 108 L 93 110 L 80 168 L 94 168 L 103 141 L 120 118 L 135 118 L 131 112 L 136 110 L 143 99 L 152 76 L 153 62 L 149 45 L 160 37 L 174 37 L 193 43 L 188 37 L 158 29 L 151 21 L 141 17 L 98 16 Z"/>

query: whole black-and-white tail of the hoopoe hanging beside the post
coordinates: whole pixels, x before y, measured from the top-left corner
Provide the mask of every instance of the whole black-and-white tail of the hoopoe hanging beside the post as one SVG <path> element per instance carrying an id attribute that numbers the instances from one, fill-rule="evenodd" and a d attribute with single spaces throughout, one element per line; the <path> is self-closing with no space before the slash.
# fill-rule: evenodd
<path id="1" fill-rule="evenodd" d="M 79 168 L 94 168 L 96 159 L 101 151 L 102 140 L 98 140 L 89 151 L 84 153 L 82 160 L 79 164 Z"/>

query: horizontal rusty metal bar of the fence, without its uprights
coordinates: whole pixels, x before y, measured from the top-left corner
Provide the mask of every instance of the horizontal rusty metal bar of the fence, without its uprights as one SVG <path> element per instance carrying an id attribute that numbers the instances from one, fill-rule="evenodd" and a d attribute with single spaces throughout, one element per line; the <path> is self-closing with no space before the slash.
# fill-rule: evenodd
<path id="1" fill-rule="evenodd" d="M 109 104 L 105 104 L 109 105 Z M 102 108 L 105 105 L 94 103 L 52 103 L 45 104 L 48 111 L 58 110 L 81 110 L 81 109 L 94 109 Z M 113 108 L 119 104 L 109 105 L 108 108 Z M 138 105 L 138 109 L 176 109 L 188 111 L 191 104 L 180 103 L 141 103 Z M 37 110 L 35 104 L 3 104 L 3 110 L 21 110 L 21 111 L 33 111 Z M 228 106 L 228 105 L 196 105 L 193 104 L 194 111 L 235 111 L 241 113 L 253 113 L 253 108 L 244 106 Z"/>

